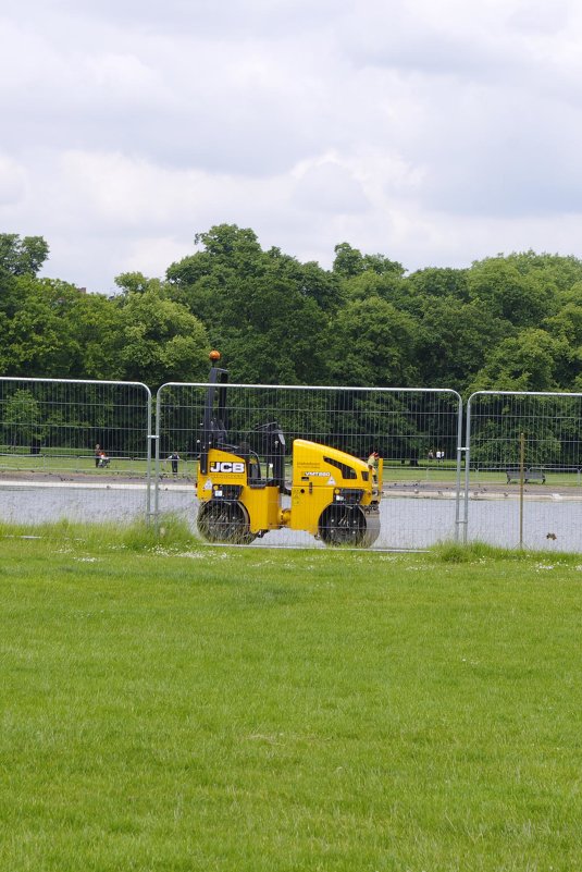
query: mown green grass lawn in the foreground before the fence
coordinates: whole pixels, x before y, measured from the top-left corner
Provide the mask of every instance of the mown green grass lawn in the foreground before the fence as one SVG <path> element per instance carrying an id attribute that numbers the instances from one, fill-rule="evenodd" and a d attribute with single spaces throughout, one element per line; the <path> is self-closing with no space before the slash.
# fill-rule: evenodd
<path id="1" fill-rule="evenodd" d="M 582 867 L 580 556 L 27 532 L 1 870 Z"/>

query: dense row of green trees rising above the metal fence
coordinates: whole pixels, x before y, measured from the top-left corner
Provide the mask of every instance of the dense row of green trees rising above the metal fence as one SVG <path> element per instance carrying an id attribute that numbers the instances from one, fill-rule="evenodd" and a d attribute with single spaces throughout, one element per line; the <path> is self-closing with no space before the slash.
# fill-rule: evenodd
<path id="1" fill-rule="evenodd" d="M 467 269 L 407 273 L 348 243 L 331 270 L 232 224 L 163 280 L 139 272 L 120 293 L 40 279 L 42 237 L 0 234 L 0 374 L 205 381 L 222 352 L 233 381 L 582 390 L 582 261 L 525 251 Z"/>

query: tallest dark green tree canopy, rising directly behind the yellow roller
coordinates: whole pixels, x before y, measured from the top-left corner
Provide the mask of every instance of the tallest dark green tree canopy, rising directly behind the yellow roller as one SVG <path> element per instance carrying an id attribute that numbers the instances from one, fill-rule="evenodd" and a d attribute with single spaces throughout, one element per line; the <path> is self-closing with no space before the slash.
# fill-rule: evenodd
<path id="1" fill-rule="evenodd" d="M 237 381 L 306 383 L 323 377 L 320 336 L 339 303 L 337 278 L 252 231 L 220 225 L 199 234 L 205 250 L 173 263 L 170 293 L 207 326 Z"/>

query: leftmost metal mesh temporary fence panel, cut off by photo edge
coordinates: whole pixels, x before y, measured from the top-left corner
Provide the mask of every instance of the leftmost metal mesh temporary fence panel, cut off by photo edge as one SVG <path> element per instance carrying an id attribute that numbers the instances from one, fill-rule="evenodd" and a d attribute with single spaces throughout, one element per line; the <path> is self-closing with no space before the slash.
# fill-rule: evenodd
<path id="1" fill-rule="evenodd" d="M 149 517 L 151 405 L 141 383 L 0 378 L 0 520 Z"/>

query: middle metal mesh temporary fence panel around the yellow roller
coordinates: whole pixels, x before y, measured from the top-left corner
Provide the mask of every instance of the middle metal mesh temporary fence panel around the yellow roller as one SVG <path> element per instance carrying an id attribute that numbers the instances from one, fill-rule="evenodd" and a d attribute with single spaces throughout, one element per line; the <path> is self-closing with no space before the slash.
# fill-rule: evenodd
<path id="1" fill-rule="evenodd" d="M 157 396 L 154 512 L 187 520 L 197 533 L 196 482 L 208 383 L 168 383 Z M 460 525 L 462 404 L 455 391 L 381 388 L 227 385 L 227 442 L 262 463 L 263 425 L 285 435 L 285 477 L 293 443 L 311 440 L 383 465 L 380 535 L 374 549 L 423 549 L 457 538 Z M 261 435 L 262 434 L 262 435 Z M 174 457 L 173 457 L 174 455 Z M 179 458 L 179 459 L 176 459 Z M 290 498 L 281 496 L 290 508 Z M 307 526 L 301 521 L 298 527 Z M 271 529 L 253 546 L 319 546 L 318 532 Z"/>

